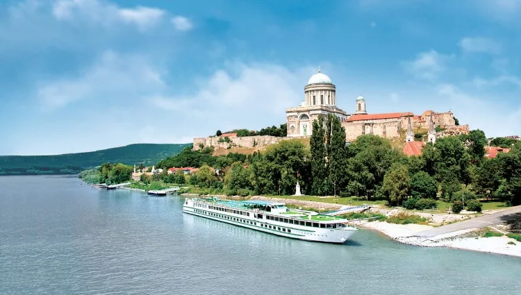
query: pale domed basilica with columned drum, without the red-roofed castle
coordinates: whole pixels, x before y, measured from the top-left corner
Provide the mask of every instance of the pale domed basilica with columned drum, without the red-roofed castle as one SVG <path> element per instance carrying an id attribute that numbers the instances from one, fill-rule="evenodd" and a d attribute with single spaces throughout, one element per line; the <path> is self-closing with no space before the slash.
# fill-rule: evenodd
<path id="1" fill-rule="evenodd" d="M 349 117 L 347 112 L 336 107 L 336 87 L 319 69 L 304 87 L 304 101 L 300 106 L 286 110 L 288 136 L 310 136 L 313 121 L 320 114 L 336 115 L 340 121 L 346 121 Z"/>

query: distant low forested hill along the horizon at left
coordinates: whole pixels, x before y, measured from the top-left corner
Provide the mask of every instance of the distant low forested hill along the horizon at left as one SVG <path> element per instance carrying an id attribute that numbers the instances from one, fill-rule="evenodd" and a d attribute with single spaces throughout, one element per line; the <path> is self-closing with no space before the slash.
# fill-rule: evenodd
<path id="1" fill-rule="evenodd" d="M 63 155 L 0 155 L 0 175 L 77 174 L 104 162 L 155 165 L 191 144 L 130 144 Z"/>

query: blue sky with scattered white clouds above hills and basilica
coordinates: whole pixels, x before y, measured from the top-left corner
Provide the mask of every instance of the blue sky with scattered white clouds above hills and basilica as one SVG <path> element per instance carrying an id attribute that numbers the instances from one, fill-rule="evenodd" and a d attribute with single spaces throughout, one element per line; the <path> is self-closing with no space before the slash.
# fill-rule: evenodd
<path id="1" fill-rule="evenodd" d="M 320 65 L 352 112 L 521 133 L 521 0 L 0 2 L 0 155 L 286 121 Z"/>

